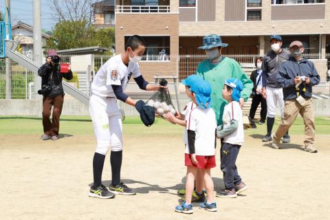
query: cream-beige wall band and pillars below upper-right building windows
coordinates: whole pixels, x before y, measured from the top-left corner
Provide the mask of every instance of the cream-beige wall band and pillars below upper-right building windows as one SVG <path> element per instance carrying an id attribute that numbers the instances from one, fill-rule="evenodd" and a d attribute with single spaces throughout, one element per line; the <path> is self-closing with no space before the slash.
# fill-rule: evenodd
<path id="1" fill-rule="evenodd" d="M 181 22 L 179 23 L 179 35 L 204 36 L 210 33 L 221 34 L 222 36 L 258 36 L 274 33 L 330 34 L 330 0 L 325 2 L 325 20 L 306 20 L 303 21 L 302 25 L 302 21 L 272 21 L 270 0 L 263 0 L 263 21 L 224 21 L 225 0 L 217 0 L 215 22 Z"/>

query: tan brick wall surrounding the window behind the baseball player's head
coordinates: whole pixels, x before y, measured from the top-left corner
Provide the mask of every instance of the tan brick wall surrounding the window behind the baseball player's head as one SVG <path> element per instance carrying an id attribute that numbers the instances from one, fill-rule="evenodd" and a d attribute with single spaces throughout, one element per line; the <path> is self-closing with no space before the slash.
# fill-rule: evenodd
<path id="1" fill-rule="evenodd" d="M 177 72 L 176 56 L 179 54 L 179 14 L 116 14 L 115 53 L 124 51 L 124 36 L 170 36 L 170 62 L 141 62 L 147 80 L 155 74 L 172 76 Z M 148 22 L 146 22 L 148 21 Z M 151 28 L 152 27 L 152 28 Z M 168 29 L 166 29 L 168 27 Z"/>

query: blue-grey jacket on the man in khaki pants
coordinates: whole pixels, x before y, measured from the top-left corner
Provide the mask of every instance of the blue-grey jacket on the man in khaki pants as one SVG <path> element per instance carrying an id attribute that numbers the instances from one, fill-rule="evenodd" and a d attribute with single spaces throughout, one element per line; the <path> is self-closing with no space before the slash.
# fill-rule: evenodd
<path id="1" fill-rule="evenodd" d="M 306 58 L 297 62 L 294 57 L 290 56 L 289 60 L 281 66 L 276 78 L 277 82 L 283 87 L 284 100 L 297 98 L 296 85 L 294 85 L 296 76 L 307 76 L 311 80 L 309 85 L 301 83 L 298 87 L 299 94 L 304 98 L 311 98 L 311 87 L 320 83 L 320 76 L 313 62 Z M 303 91 L 304 87 L 306 91 Z"/>

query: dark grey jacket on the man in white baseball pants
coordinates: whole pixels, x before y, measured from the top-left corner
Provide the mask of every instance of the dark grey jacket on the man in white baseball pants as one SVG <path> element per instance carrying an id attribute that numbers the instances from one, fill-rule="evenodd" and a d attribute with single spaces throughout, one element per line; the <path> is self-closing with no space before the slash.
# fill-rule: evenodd
<path id="1" fill-rule="evenodd" d="M 261 66 L 261 69 L 263 69 L 263 74 L 266 76 L 267 87 L 281 88 L 280 83 L 276 80 L 276 76 L 281 65 L 289 59 L 289 56 L 290 52 L 283 49 L 279 54 L 276 54 L 271 50 L 263 57 L 263 65 Z M 265 87 L 264 84 L 265 81 L 263 81 L 263 87 Z"/>

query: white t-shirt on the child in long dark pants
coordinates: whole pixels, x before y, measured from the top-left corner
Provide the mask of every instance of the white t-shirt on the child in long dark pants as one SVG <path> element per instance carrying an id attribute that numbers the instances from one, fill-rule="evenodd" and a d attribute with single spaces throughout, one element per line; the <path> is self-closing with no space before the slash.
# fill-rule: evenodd
<path id="1" fill-rule="evenodd" d="M 238 121 L 239 126 L 235 131 L 232 131 L 232 133 L 223 137 L 223 142 L 242 145 L 244 142 L 243 116 L 241 106 L 239 105 L 239 102 L 236 101 L 232 101 L 225 105 L 222 116 L 223 129 L 228 127 L 232 120 Z"/>

